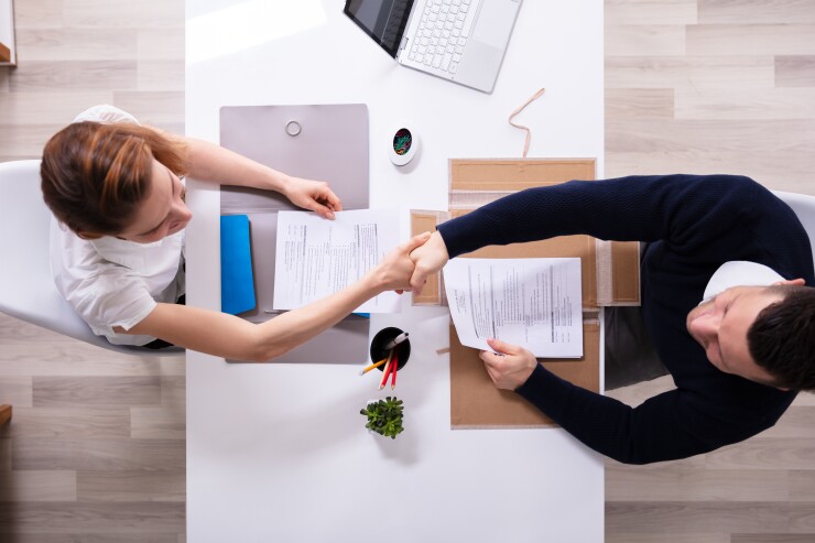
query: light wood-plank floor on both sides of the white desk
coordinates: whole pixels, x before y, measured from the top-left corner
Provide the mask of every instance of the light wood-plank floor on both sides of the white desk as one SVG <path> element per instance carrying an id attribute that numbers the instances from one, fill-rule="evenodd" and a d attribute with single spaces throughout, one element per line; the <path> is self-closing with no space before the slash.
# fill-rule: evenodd
<path id="1" fill-rule="evenodd" d="M 539 1 L 539 0 L 528 0 Z M 184 129 L 182 0 L 18 0 L 0 161 L 109 102 Z M 739 173 L 815 194 L 815 0 L 606 0 L 606 175 Z M 635 404 L 669 379 L 613 393 Z M 0 541 L 184 540 L 184 359 L 0 315 Z M 715 453 L 607 463 L 609 543 L 815 541 L 815 400 Z"/>

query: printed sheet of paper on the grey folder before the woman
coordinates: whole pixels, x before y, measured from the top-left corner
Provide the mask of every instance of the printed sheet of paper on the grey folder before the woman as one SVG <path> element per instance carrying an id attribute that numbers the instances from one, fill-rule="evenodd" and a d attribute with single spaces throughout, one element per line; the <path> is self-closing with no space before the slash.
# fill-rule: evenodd
<path id="1" fill-rule="evenodd" d="M 357 282 L 399 245 L 392 209 L 337 211 L 334 220 L 312 211 L 278 213 L 274 308 L 294 309 Z M 399 311 L 399 294 L 384 292 L 355 309 Z"/>

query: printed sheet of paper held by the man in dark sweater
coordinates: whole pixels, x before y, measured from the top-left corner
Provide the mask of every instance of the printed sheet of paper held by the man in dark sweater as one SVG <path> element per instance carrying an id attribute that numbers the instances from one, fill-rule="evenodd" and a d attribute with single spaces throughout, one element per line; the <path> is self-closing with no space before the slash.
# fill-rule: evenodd
<path id="1" fill-rule="evenodd" d="M 453 259 L 444 268 L 461 345 L 497 338 L 535 357 L 583 356 L 580 259 Z"/>

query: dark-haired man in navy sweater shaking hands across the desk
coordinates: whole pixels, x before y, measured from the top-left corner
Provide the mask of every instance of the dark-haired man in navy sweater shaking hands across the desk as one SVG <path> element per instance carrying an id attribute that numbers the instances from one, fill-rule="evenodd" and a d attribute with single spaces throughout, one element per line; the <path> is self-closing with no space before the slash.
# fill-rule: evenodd
<path id="1" fill-rule="evenodd" d="M 745 177 L 634 176 L 528 189 L 439 225 L 411 258 L 411 286 L 488 245 L 588 234 L 648 242 L 642 316 L 676 390 L 631 409 L 491 340 L 481 359 L 595 450 L 619 461 L 684 458 L 771 427 L 815 388 L 815 284 L 795 214 Z"/>

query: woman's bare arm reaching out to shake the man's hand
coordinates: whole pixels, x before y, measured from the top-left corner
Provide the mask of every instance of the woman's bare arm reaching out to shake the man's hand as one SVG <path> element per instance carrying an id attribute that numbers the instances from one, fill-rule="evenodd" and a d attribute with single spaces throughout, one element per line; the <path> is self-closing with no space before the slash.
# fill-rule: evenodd
<path id="1" fill-rule="evenodd" d="M 222 358 L 271 360 L 334 326 L 367 300 L 384 291 L 410 290 L 409 254 L 428 237 L 425 232 L 402 243 L 352 285 L 262 324 L 198 307 L 157 304 L 130 330 L 116 332 L 153 336 Z"/>

